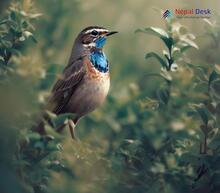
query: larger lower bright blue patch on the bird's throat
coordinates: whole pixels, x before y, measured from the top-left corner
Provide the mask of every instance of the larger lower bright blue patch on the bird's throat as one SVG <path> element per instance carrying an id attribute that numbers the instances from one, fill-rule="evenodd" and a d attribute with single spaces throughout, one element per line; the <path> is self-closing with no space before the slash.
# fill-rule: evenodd
<path id="1" fill-rule="evenodd" d="M 108 72 L 108 60 L 103 52 L 94 51 L 90 55 L 90 61 L 99 72 Z"/>

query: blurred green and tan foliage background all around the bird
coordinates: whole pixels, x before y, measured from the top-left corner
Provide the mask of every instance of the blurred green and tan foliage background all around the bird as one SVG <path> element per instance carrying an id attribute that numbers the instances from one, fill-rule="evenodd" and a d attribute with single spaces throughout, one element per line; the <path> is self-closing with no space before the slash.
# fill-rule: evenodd
<path id="1" fill-rule="evenodd" d="M 209 8 L 208 19 L 162 10 Z M 0 1 L 1 193 L 219 193 L 220 7 L 215 1 Z M 32 131 L 74 37 L 105 47 L 105 104 L 68 130 Z M 52 121 L 65 116 L 52 116 Z"/>

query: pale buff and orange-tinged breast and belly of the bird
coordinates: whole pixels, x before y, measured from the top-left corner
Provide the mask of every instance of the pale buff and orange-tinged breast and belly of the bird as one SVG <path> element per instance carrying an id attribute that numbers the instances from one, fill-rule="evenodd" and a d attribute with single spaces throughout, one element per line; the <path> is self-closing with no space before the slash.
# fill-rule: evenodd
<path id="1" fill-rule="evenodd" d="M 85 115 L 99 107 L 104 102 L 110 87 L 109 72 L 98 71 L 89 61 L 86 65 L 87 73 L 69 104 L 70 112 L 79 115 Z"/>

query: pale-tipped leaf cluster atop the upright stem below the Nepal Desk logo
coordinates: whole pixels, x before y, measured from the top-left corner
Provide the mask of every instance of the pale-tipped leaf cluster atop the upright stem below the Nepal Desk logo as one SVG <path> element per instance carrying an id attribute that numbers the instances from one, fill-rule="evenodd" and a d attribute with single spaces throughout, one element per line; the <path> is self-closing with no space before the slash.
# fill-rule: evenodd
<path id="1" fill-rule="evenodd" d="M 148 27 L 138 29 L 136 32 L 148 33 L 159 37 L 167 48 L 167 50 L 163 50 L 163 58 L 154 52 L 147 53 L 145 58 L 155 57 L 159 60 L 163 68 L 168 71 L 175 71 L 178 67 L 175 62 L 179 62 L 179 60 L 183 59 L 182 56 L 184 52 L 191 47 L 198 49 L 198 46 L 193 41 L 195 39 L 194 35 L 188 33 L 183 25 L 174 18 L 166 21 L 166 31 L 161 28 Z"/>

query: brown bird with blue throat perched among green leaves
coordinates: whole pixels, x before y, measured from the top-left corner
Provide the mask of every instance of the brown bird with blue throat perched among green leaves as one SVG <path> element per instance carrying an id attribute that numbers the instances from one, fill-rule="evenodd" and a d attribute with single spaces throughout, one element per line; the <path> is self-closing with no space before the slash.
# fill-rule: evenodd
<path id="1" fill-rule="evenodd" d="M 69 126 L 71 137 L 76 139 L 75 127 L 78 121 L 101 106 L 109 92 L 109 62 L 103 47 L 109 36 L 118 33 L 104 27 L 89 26 L 76 37 L 67 66 L 54 84 L 45 110 L 56 115 L 73 113 L 57 128 L 61 131 Z M 49 122 L 44 113 L 44 120 Z M 44 122 L 34 130 L 45 133 Z"/>

